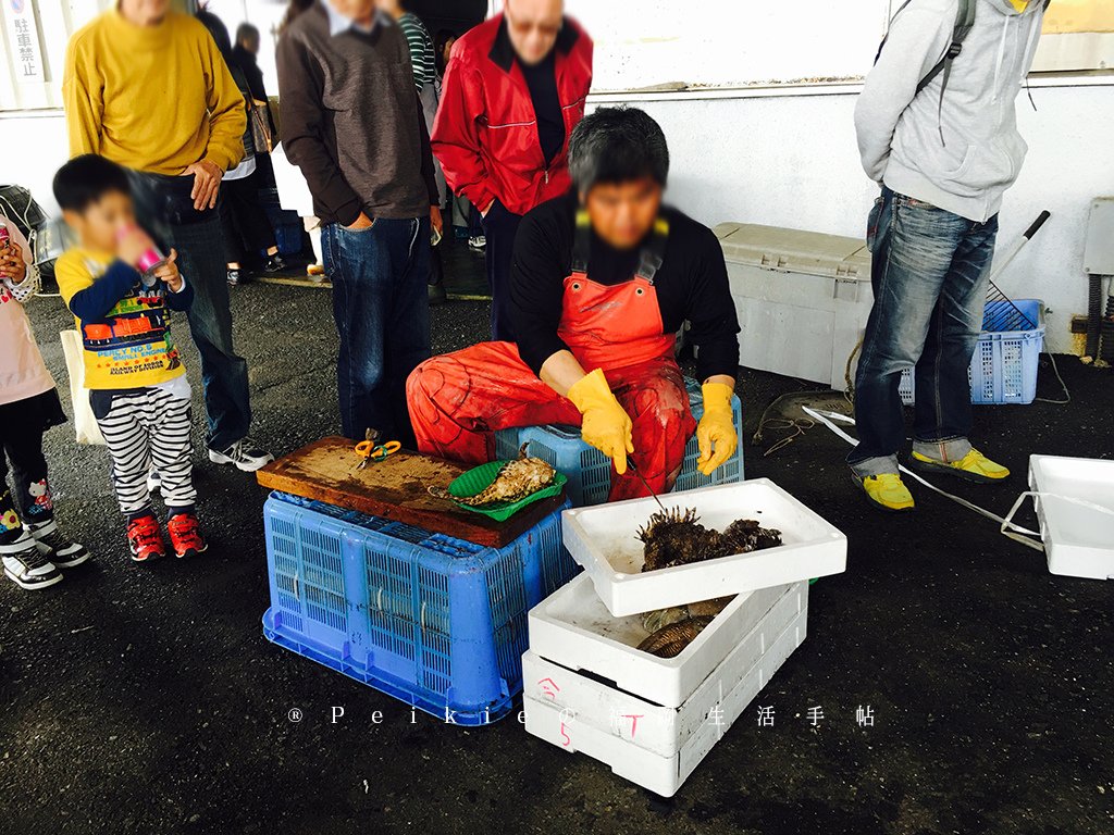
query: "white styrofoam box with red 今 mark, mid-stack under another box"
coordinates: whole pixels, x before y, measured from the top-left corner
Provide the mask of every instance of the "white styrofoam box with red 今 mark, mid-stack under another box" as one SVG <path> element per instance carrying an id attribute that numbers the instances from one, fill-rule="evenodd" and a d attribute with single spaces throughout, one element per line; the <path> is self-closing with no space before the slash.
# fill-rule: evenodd
<path id="1" fill-rule="evenodd" d="M 808 613 L 808 591 L 802 590 L 807 587 L 808 583 L 790 587 L 791 590 L 781 595 L 751 629 L 745 633 L 735 632 L 730 651 L 721 656 L 720 664 L 676 707 L 655 705 L 609 680 L 600 681 L 585 672 L 569 670 L 540 657 L 534 649 L 522 655 L 522 691 L 531 699 L 548 701 L 575 715 L 578 721 L 614 734 L 639 748 L 663 757 L 673 756 L 696 733 L 709 711 L 722 701 L 723 695 L 734 689 L 785 629 Z"/>

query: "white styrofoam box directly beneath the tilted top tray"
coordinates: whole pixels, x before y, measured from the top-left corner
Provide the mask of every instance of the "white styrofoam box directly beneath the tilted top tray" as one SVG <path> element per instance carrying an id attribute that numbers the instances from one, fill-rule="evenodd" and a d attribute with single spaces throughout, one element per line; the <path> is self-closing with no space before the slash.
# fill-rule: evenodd
<path id="1" fill-rule="evenodd" d="M 646 636 L 642 616 L 612 617 L 592 578 L 582 573 L 530 610 L 530 651 L 569 670 L 602 676 L 647 701 L 678 707 L 791 588 L 739 595 L 681 655 L 658 658 L 635 649 Z M 527 692 L 530 687 L 527 680 Z"/>

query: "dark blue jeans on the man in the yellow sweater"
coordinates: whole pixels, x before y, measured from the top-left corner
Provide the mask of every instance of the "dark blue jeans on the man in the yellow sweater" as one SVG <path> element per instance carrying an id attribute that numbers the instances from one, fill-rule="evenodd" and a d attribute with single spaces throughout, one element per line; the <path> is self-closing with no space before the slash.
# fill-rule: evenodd
<path id="1" fill-rule="evenodd" d="M 178 267 L 193 285 L 194 303 L 186 314 L 189 333 L 202 357 L 207 443 L 223 450 L 244 438 L 252 425 L 247 361 L 232 345 L 232 308 L 225 264 L 224 234 L 216 212 L 201 223 L 168 226 Z"/>

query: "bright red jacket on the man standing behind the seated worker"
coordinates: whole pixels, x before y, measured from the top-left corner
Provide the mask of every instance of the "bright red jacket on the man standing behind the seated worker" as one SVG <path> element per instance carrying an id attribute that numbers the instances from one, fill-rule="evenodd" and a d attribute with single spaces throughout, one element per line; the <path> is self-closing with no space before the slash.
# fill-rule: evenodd
<path id="1" fill-rule="evenodd" d="M 477 208 L 498 198 L 525 215 L 571 186 L 568 137 L 584 118 L 592 87 L 592 39 L 565 18 L 555 49 L 565 145 L 547 169 L 534 102 L 502 14 L 471 29 L 452 48 L 433 122 L 433 154 L 452 190 Z"/>

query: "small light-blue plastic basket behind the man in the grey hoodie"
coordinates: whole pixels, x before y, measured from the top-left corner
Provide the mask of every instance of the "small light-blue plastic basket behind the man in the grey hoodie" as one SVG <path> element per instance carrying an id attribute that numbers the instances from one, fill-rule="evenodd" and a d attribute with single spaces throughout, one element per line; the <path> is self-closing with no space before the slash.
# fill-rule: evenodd
<path id="1" fill-rule="evenodd" d="M 1028 331 L 983 332 L 968 371 L 971 403 L 976 405 L 1025 405 L 1037 396 L 1037 365 L 1044 351 L 1044 303 L 1035 298 L 1019 298 L 1014 305 L 1037 326 Z M 1008 315 L 1008 307 L 1009 302 L 987 302 L 983 321 Z M 912 369 L 901 372 L 898 393 L 906 405 L 916 402 L 913 380 Z"/>

